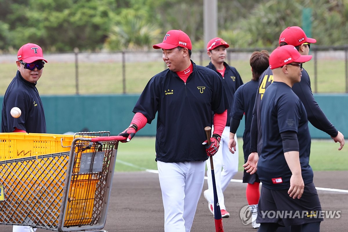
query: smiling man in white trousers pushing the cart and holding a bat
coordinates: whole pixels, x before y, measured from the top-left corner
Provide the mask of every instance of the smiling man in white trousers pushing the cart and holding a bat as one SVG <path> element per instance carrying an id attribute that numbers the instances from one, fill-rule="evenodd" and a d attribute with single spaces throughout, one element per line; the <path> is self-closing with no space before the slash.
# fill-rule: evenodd
<path id="1" fill-rule="evenodd" d="M 157 113 L 156 161 L 165 232 L 189 232 L 203 189 L 205 161 L 219 148 L 226 125 L 227 95 L 216 72 L 193 63 L 191 40 L 170 30 L 162 49 L 168 69 L 150 79 L 137 101 L 130 126 L 119 135 L 129 142 Z M 214 119 L 212 118 L 214 112 Z M 204 128 L 214 124 L 211 145 Z"/>

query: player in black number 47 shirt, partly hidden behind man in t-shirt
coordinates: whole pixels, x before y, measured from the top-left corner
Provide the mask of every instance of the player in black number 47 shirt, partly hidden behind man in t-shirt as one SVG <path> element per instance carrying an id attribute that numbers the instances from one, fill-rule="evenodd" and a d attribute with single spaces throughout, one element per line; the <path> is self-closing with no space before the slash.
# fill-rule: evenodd
<path id="1" fill-rule="evenodd" d="M 291 26 L 287 27 L 279 37 L 279 46 L 293 45 L 298 49 L 301 55 L 308 55 L 311 43 L 317 41 L 312 38 L 308 38 L 301 27 Z M 259 88 L 255 99 L 255 106 L 253 111 L 253 120 L 251 126 L 251 145 L 250 152 L 252 154 L 251 159 L 256 155 L 257 151 L 260 151 L 262 147 L 262 132 L 261 121 L 258 116 L 260 113 L 260 102 L 266 88 L 273 82 L 273 74 L 270 68 L 261 74 L 259 80 Z M 310 79 L 306 70 L 302 68 L 302 77 L 299 83 L 295 83 L 292 90 L 302 101 L 304 108 L 307 112 L 309 122 L 319 130 L 329 134 L 335 142 L 340 143 L 338 150 L 341 150 L 345 144 L 344 136 L 338 131 L 332 123 L 326 118 L 323 111 L 320 109 L 318 103 L 312 94 L 310 87 Z"/>

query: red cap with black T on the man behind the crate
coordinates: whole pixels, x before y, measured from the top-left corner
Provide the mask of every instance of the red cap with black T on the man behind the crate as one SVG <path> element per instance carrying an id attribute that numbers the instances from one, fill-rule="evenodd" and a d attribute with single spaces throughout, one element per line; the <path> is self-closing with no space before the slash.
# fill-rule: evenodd
<path id="1" fill-rule="evenodd" d="M 18 61 L 24 61 L 25 63 L 32 63 L 40 59 L 47 63 L 42 54 L 41 47 L 35 43 L 27 43 L 19 48 L 17 59 Z"/>

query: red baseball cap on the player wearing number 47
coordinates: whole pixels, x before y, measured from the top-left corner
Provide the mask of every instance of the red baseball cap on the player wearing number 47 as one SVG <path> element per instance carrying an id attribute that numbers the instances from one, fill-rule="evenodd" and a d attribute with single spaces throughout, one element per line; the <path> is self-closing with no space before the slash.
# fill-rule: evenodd
<path id="1" fill-rule="evenodd" d="M 316 43 L 316 39 L 308 38 L 306 33 L 299 26 L 287 27 L 279 37 L 280 42 L 286 42 L 288 45 L 300 46 L 302 43 Z"/>

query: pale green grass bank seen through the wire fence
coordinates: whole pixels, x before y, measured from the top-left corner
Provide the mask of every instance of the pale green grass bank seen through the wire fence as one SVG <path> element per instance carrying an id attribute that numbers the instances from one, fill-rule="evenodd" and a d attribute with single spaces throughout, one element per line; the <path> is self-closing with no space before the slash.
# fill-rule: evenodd
<path id="1" fill-rule="evenodd" d="M 126 93 L 141 93 L 153 75 L 163 71 L 163 61 L 158 62 L 127 62 L 125 64 L 125 91 Z M 198 60 L 193 59 L 197 64 Z M 207 65 L 206 59 L 202 65 Z M 251 80 L 251 68 L 248 60 L 231 61 L 236 67 L 243 82 Z M 15 63 L 1 63 L 2 81 L 0 92 L 5 90 L 13 79 L 17 68 Z M 339 60 L 319 60 L 317 77 L 314 75 L 314 62 L 303 65 L 311 78 L 313 92 L 318 93 L 345 93 L 345 64 Z M 120 94 L 123 93 L 122 63 L 79 63 L 78 92 L 79 94 Z M 67 95 L 76 93 L 76 70 L 74 63 L 47 63 L 44 73 L 38 81 L 40 95 Z"/>

